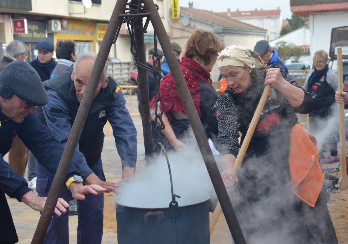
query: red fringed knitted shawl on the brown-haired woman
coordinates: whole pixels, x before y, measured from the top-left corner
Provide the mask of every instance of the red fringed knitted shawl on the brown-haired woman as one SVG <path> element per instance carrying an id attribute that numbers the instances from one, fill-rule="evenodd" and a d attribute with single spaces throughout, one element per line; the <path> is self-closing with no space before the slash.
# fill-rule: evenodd
<path id="1" fill-rule="evenodd" d="M 196 61 L 187 57 L 182 57 L 179 64 L 186 84 L 191 93 L 193 103 L 195 104 L 198 115 L 200 117 L 201 93 L 199 88 L 199 81 L 211 85 L 212 80 L 210 79 L 210 73 L 202 66 L 200 66 L 200 64 L 198 64 Z M 193 74 L 187 67 L 182 66 L 183 64 L 188 66 L 195 74 Z M 197 79 L 195 75 L 199 79 Z M 173 111 L 179 111 L 182 114 L 186 114 L 171 72 L 162 79 L 160 91 L 162 100 L 164 102 L 164 111 L 168 117 L 169 122 L 173 119 L 173 115 L 172 113 L 170 113 L 171 109 L 173 109 Z M 154 103 L 155 100 L 152 99 L 150 106 L 154 106 Z"/>

